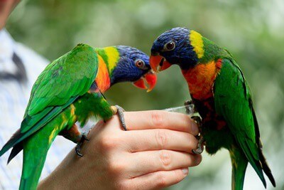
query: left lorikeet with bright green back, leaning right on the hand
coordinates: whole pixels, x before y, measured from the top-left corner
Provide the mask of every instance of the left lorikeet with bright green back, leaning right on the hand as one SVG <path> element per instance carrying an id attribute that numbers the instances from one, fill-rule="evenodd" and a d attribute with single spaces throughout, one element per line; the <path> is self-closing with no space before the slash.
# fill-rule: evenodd
<path id="1" fill-rule="evenodd" d="M 82 142 L 75 122 L 81 126 L 89 117 L 108 120 L 116 113 L 103 93 L 111 85 L 133 82 L 151 90 L 156 81 L 148 56 L 128 46 L 92 48 L 78 44 L 72 51 L 53 60 L 39 75 L 21 123 L 21 129 L 0 151 L 13 147 L 9 161 L 23 149 L 20 189 L 35 189 L 48 149 L 58 134 L 73 142 Z M 81 155 L 80 147 L 77 154 Z M 82 156 L 82 155 L 81 155 Z"/>

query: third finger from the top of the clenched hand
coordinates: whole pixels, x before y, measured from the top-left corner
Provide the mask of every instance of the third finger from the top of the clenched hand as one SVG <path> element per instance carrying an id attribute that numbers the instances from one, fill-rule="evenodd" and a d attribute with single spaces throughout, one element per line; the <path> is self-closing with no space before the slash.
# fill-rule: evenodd
<path id="1" fill-rule="evenodd" d="M 159 151 L 136 152 L 127 158 L 130 176 L 141 176 L 154 171 L 170 171 L 178 168 L 195 167 L 201 162 L 200 154 L 188 154 L 162 149 Z M 137 163 L 138 162 L 138 163 Z"/>

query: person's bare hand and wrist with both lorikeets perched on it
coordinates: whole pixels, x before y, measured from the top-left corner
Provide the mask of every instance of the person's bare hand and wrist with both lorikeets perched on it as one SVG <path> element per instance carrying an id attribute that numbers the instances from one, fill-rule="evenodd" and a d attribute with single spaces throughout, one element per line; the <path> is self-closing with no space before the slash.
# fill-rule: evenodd
<path id="1" fill-rule="evenodd" d="M 201 162 L 198 127 L 187 115 L 165 111 L 124 112 L 98 122 L 82 146 L 72 150 L 38 189 L 160 189 L 176 184 Z M 62 150 L 64 151 L 64 150 Z"/>

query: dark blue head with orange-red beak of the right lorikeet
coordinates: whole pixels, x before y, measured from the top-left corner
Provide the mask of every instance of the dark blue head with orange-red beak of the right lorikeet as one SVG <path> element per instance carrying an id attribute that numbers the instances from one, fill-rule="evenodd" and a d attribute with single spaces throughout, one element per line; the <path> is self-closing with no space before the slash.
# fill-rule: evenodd
<path id="1" fill-rule="evenodd" d="M 150 63 L 153 70 L 165 70 L 170 65 L 177 64 L 186 69 L 197 64 L 197 53 L 190 42 L 190 30 L 187 28 L 172 28 L 162 33 L 151 48 Z"/>

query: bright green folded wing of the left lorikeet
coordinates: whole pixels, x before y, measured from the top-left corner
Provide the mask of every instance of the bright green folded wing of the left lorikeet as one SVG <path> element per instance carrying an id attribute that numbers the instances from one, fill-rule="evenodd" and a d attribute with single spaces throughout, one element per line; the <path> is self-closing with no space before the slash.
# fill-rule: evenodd
<path id="1" fill-rule="evenodd" d="M 79 44 L 50 63 L 33 85 L 21 132 L 4 145 L 0 156 L 43 127 L 77 97 L 87 93 L 97 76 L 97 70 L 97 53 L 84 44 Z"/>

